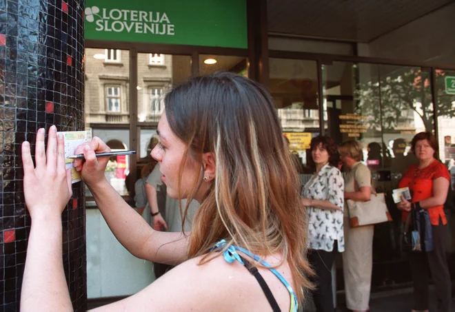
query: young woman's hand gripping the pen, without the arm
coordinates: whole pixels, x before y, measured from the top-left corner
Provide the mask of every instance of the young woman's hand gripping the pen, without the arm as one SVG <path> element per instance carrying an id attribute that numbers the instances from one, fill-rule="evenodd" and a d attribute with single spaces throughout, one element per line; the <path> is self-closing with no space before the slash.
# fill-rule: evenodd
<path id="1" fill-rule="evenodd" d="M 97 185 L 105 181 L 104 171 L 109 157 L 97 158 L 95 154 L 110 152 L 110 147 L 101 138 L 94 136 L 90 143 L 79 145 L 74 154 L 83 154 L 85 160 L 74 160 L 74 167 L 81 172 L 81 177 L 88 186 Z"/>

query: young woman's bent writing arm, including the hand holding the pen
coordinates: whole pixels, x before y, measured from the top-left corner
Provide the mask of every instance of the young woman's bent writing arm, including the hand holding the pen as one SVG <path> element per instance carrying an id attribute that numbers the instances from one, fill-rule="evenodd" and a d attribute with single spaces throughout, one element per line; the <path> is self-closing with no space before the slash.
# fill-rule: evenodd
<path id="1" fill-rule="evenodd" d="M 75 162 L 78 171 L 93 194 L 114 236 L 134 256 L 165 264 L 179 264 L 187 258 L 188 236 L 183 233 L 154 231 L 128 205 L 104 176 L 107 158 L 96 158 L 95 152 L 109 152 L 100 138 L 77 147 L 76 154 L 84 154 L 85 162 Z"/>

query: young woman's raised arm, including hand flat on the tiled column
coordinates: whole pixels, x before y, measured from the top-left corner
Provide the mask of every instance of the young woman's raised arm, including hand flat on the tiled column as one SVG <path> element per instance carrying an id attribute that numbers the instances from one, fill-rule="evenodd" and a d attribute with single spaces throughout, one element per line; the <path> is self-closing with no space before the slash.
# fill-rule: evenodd
<path id="1" fill-rule="evenodd" d="M 72 311 L 62 259 L 61 212 L 72 196 L 71 172 L 65 170 L 63 136 L 50 127 L 48 153 L 44 129 L 37 133 L 36 168 L 30 144 L 22 144 L 23 190 L 32 226 L 21 290 L 21 311 Z M 45 238 L 45 239 L 43 239 Z"/>

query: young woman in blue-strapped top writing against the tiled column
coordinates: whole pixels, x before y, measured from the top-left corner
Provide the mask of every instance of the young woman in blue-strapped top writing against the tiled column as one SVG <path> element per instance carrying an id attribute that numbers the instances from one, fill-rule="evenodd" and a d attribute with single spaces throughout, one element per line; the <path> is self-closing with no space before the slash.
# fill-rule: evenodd
<path id="1" fill-rule="evenodd" d="M 61 211 L 71 197 L 63 138 L 23 143 L 32 217 L 21 311 L 72 309 L 61 255 Z M 296 311 L 310 287 L 299 179 L 270 94 L 232 73 L 190 79 L 165 98 L 152 151 L 173 198 L 201 202 L 192 232 L 154 231 L 105 180 L 109 148 L 78 147 L 74 165 L 119 241 L 134 256 L 179 264 L 139 293 L 96 311 Z M 188 204 L 185 210 L 188 209 Z M 45 237 L 46 240 L 41 238 Z"/>

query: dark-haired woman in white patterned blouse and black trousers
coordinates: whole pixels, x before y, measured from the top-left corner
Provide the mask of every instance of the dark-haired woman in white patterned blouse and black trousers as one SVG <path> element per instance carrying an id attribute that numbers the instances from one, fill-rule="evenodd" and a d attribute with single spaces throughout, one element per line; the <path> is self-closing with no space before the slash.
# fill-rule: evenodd
<path id="1" fill-rule="evenodd" d="M 303 187 L 302 205 L 308 213 L 308 260 L 315 271 L 312 291 L 317 312 L 333 312 L 332 264 L 337 252 L 344 251 L 344 180 L 338 165 L 338 152 L 332 138 L 316 136 L 311 141 L 316 169 Z"/>

